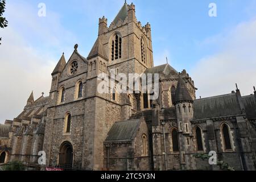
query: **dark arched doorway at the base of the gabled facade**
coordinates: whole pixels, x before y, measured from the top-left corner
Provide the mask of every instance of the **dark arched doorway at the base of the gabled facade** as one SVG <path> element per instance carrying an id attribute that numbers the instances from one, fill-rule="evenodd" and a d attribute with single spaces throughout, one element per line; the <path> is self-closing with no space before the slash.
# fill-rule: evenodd
<path id="1" fill-rule="evenodd" d="M 73 168 L 73 146 L 70 142 L 63 142 L 60 146 L 59 167 Z"/>

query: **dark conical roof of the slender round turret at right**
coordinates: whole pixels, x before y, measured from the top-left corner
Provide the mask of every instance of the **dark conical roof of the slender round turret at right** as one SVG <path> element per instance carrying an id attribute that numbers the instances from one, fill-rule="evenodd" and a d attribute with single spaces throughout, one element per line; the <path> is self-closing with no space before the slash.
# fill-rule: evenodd
<path id="1" fill-rule="evenodd" d="M 187 88 L 187 85 L 185 84 L 185 81 L 183 80 L 182 77 L 179 77 L 179 80 L 177 82 L 176 92 L 175 92 L 175 103 L 182 102 L 182 101 L 193 102 L 193 99 L 188 92 L 188 88 Z"/>

